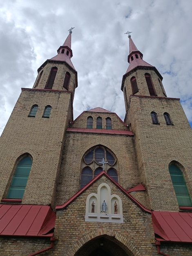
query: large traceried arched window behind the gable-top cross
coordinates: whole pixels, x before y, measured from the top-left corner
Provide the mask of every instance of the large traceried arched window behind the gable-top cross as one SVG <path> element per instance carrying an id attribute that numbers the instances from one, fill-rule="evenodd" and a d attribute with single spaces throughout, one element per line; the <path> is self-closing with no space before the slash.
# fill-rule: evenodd
<path id="1" fill-rule="evenodd" d="M 104 170 L 116 182 L 118 182 L 117 168 L 118 163 L 115 155 L 103 146 L 96 146 L 88 150 L 81 162 L 80 189 L 89 183 L 94 177 Z"/>

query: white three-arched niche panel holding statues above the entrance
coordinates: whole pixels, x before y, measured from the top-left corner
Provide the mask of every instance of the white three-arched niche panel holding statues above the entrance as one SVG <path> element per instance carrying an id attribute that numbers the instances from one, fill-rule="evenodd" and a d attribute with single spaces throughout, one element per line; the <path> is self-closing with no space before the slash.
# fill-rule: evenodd
<path id="1" fill-rule="evenodd" d="M 104 200 L 107 204 L 105 211 L 102 209 Z M 116 212 L 115 202 L 117 204 Z M 116 194 L 111 195 L 111 188 L 107 183 L 98 186 L 97 194 L 90 193 L 87 196 L 85 221 L 123 223 L 121 198 Z"/>

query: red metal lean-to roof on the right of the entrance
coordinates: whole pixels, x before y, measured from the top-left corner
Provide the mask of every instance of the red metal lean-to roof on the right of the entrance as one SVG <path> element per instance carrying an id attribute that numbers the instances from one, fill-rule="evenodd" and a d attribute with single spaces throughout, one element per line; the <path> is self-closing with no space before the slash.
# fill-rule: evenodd
<path id="1" fill-rule="evenodd" d="M 192 213 L 152 211 L 157 241 L 192 243 Z"/>

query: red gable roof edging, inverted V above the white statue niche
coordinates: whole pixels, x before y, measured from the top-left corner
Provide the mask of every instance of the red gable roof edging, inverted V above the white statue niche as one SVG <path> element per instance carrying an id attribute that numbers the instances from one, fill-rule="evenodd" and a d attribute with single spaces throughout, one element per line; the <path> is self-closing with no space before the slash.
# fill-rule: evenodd
<path id="1" fill-rule="evenodd" d="M 138 207 L 140 207 L 143 211 L 147 212 L 147 213 L 151 213 L 150 210 L 148 210 L 147 208 L 145 208 L 142 204 L 140 204 L 135 198 L 132 197 L 132 195 L 129 195 L 129 193 L 127 193 L 127 191 L 125 191 L 125 189 L 123 189 L 118 183 L 116 183 L 111 177 L 109 177 L 109 175 L 107 173 L 105 173 L 105 171 L 102 171 L 101 173 L 99 173 L 93 180 L 91 180 L 87 185 L 85 185 L 82 189 L 80 189 L 74 196 L 72 196 L 67 202 L 65 202 L 62 205 L 58 205 L 56 206 L 56 210 L 61 210 L 66 208 L 71 202 L 73 202 L 79 195 L 81 195 L 86 189 L 88 189 L 92 184 L 94 184 L 97 180 L 100 179 L 100 177 L 102 176 L 107 177 L 107 179 L 109 179 L 113 184 L 115 184 L 115 186 L 118 187 L 118 189 L 120 189 L 125 195 L 127 195 L 127 197 L 132 200 L 132 202 L 134 202 Z"/>

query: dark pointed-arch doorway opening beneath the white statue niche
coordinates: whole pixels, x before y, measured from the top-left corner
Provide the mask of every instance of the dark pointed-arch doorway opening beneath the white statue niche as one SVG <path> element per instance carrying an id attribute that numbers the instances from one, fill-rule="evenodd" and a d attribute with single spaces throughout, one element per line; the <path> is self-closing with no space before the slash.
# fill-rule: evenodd
<path id="1" fill-rule="evenodd" d="M 83 245 L 74 256 L 134 256 L 113 236 L 98 236 Z"/>

